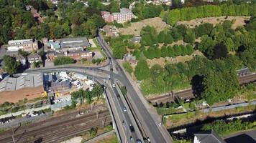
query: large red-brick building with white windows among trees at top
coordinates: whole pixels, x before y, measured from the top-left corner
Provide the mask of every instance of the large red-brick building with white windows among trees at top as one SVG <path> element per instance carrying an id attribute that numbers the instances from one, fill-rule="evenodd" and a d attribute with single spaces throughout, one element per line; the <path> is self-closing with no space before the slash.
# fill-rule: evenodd
<path id="1" fill-rule="evenodd" d="M 126 8 L 120 9 L 120 12 L 114 12 L 110 14 L 108 11 L 101 11 L 101 16 L 106 22 L 113 22 L 116 21 L 118 23 L 130 21 L 134 14 L 132 14 L 132 11 Z"/>

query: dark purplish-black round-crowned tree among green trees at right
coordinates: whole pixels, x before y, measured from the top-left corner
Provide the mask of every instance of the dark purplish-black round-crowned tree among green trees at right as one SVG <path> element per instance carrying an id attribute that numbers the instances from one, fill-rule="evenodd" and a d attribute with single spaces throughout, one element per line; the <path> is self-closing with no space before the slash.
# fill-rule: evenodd
<path id="1" fill-rule="evenodd" d="M 223 43 L 219 43 L 214 46 L 214 55 L 212 58 L 219 59 L 221 57 L 227 57 L 227 53 L 227 46 Z"/>

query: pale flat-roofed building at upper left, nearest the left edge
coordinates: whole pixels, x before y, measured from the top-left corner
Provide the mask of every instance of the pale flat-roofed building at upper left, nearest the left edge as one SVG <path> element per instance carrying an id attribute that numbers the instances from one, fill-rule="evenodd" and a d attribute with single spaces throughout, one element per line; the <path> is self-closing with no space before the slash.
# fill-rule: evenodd
<path id="1" fill-rule="evenodd" d="M 7 51 L 36 51 L 38 49 L 38 41 L 34 39 L 10 40 L 8 41 Z"/>

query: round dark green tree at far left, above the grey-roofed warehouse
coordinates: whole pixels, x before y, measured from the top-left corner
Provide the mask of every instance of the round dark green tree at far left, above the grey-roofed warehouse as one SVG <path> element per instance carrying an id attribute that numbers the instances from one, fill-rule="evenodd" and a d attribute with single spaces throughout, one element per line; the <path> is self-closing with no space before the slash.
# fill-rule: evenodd
<path id="1" fill-rule="evenodd" d="M 9 75 L 13 75 L 17 72 L 17 69 L 20 66 L 20 63 L 16 61 L 16 59 L 12 56 L 4 55 L 4 71 L 6 71 Z"/>

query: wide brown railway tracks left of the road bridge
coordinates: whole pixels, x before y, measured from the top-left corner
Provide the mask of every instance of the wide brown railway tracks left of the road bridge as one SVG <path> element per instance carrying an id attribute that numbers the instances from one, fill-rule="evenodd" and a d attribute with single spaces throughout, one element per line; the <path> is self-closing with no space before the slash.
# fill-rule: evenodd
<path id="1" fill-rule="evenodd" d="M 44 139 L 45 137 L 51 139 L 52 137 L 55 137 L 56 139 L 59 139 L 58 137 L 60 135 L 63 135 L 63 139 L 66 137 L 70 137 L 71 134 L 78 134 L 78 132 L 84 132 L 88 129 L 91 129 L 91 127 L 99 127 L 102 126 L 102 121 L 104 121 L 106 124 L 109 124 L 111 122 L 111 117 L 109 114 L 109 110 L 104 110 L 99 112 L 98 119 L 96 116 L 96 112 L 82 115 L 81 117 L 77 117 L 74 119 L 68 119 L 63 120 L 55 124 L 50 124 L 47 126 L 40 126 L 37 129 L 31 129 L 26 131 L 26 129 L 18 129 L 17 132 L 14 134 L 14 139 L 16 142 L 28 142 L 29 139 Z M 60 134 L 62 132 L 62 134 Z M 68 134 L 65 134 L 65 132 L 68 132 Z M 46 139 L 47 139 L 46 138 Z M 4 136 L 1 136 L 0 142 L 13 142 L 12 141 L 12 132 L 6 132 Z M 45 141 L 44 141 L 45 142 Z"/>

